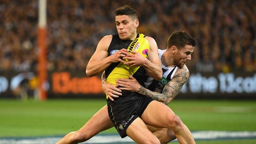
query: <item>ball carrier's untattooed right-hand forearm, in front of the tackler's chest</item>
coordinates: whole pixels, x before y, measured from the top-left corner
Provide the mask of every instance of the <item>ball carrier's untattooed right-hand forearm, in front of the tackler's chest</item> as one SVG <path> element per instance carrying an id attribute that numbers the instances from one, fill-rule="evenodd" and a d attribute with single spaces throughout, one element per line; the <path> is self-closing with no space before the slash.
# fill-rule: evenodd
<path id="1" fill-rule="evenodd" d="M 142 65 L 147 71 L 148 76 L 156 80 L 160 80 L 163 76 L 162 67 L 158 63 L 151 63 L 149 60 Z"/>

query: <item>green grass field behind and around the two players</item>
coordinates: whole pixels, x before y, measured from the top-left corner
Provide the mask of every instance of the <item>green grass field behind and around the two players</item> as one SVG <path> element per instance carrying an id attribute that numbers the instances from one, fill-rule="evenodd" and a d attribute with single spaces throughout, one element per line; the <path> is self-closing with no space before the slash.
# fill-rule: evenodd
<path id="1" fill-rule="evenodd" d="M 98 99 L 0 100 L 0 138 L 63 136 L 82 127 L 105 104 L 105 100 Z M 169 107 L 191 131 L 256 131 L 256 101 L 174 100 Z M 112 128 L 102 133 L 117 132 Z M 256 139 L 207 143 L 252 144 Z"/>

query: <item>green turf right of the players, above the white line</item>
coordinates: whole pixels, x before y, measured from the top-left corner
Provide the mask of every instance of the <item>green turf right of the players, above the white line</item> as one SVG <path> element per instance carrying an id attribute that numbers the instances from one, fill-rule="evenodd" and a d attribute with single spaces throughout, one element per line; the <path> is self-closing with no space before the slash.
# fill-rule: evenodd
<path id="1" fill-rule="evenodd" d="M 173 101 L 191 130 L 256 131 L 256 101 Z"/>

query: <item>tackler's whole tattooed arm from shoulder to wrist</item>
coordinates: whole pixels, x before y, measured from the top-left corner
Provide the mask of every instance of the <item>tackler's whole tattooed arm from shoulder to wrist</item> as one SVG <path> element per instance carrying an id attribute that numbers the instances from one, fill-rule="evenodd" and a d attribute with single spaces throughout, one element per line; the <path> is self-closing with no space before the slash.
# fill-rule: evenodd
<path id="1" fill-rule="evenodd" d="M 146 89 L 145 87 L 140 87 L 138 90 L 139 94 L 143 94 L 147 97 L 153 98 L 158 102 L 168 105 L 171 100 L 180 92 L 184 83 L 186 83 L 189 78 L 189 70 L 186 66 L 181 69 L 178 69 L 173 76 L 173 79 L 169 81 L 163 88 L 162 93 L 152 92 L 151 90 Z"/>

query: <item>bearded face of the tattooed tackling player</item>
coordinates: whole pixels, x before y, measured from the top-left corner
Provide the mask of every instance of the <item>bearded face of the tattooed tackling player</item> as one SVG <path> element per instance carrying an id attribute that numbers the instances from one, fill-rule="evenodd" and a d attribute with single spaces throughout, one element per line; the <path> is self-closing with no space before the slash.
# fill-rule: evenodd
<path id="1" fill-rule="evenodd" d="M 177 49 L 178 50 L 178 49 Z M 194 51 L 194 47 L 190 45 L 184 46 L 184 48 L 180 48 L 176 54 L 176 66 L 182 68 L 187 61 L 191 60 L 191 54 Z"/>

